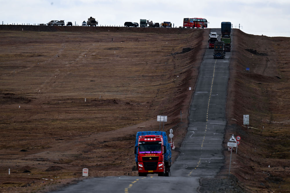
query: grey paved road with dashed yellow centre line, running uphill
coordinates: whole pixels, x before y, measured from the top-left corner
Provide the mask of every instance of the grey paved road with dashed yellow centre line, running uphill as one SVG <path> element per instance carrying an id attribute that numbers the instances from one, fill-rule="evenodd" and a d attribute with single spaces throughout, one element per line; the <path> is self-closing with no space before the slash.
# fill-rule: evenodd
<path id="1" fill-rule="evenodd" d="M 225 59 L 213 59 L 213 49 L 206 50 L 190 106 L 188 132 L 181 154 L 171 166 L 171 177 L 86 179 L 59 192 L 197 192 L 199 178 L 215 177 L 224 163 L 222 141 L 229 61 L 230 52 Z"/>

